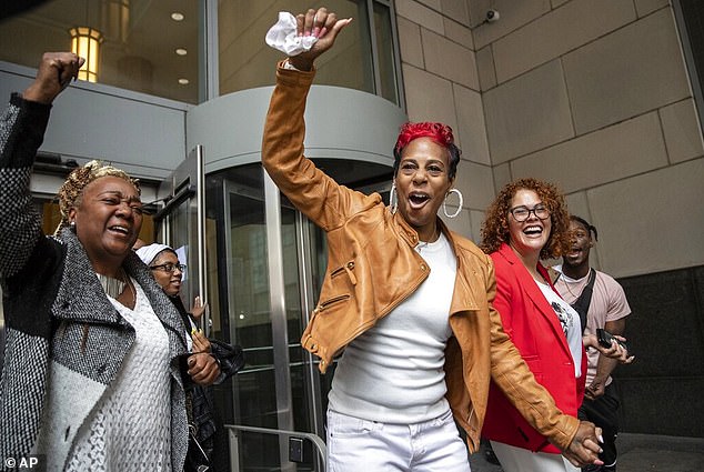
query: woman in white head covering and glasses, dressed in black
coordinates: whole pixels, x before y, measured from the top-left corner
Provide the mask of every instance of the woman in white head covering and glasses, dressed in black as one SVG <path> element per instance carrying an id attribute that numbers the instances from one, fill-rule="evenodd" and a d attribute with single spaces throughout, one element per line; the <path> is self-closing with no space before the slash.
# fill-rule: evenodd
<path id="1" fill-rule="evenodd" d="M 244 364 L 242 349 L 232 347 L 217 340 L 209 340 L 198 329 L 205 305 L 200 297 L 195 297 L 193 308 L 187 311 L 181 300 L 181 279 L 185 265 L 179 262 L 179 257 L 173 248 L 167 244 L 143 245 L 137 251 L 137 255 L 149 267 L 154 280 L 163 289 L 164 293 L 179 310 L 184 325 L 189 329 L 187 340 L 189 352 L 210 353 L 221 372 L 212 379 L 210 384 L 220 384 L 234 375 Z M 185 458 L 184 471 L 197 471 L 199 466 L 209 465 L 211 471 L 227 470 L 224 448 L 227 448 L 222 433 L 221 421 L 215 413 L 212 389 L 207 384 L 187 382 L 187 414 L 189 420 L 189 450 Z"/>

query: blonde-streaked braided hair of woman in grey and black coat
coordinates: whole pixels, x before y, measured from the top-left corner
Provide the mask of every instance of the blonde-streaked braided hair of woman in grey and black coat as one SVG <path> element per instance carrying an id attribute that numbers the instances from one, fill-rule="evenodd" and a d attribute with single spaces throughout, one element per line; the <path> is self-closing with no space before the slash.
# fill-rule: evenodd
<path id="1" fill-rule="evenodd" d="M 137 188 L 137 192 L 141 194 L 139 181 L 132 179 L 121 169 L 114 168 L 101 161 L 90 161 L 86 165 L 76 168 L 71 171 L 66 182 L 59 189 L 57 199 L 59 200 L 59 211 L 61 212 L 61 221 L 54 234 L 59 234 L 63 228 L 69 227 L 69 211 L 81 203 L 83 189 L 93 180 L 101 177 L 118 177 L 130 182 Z"/>

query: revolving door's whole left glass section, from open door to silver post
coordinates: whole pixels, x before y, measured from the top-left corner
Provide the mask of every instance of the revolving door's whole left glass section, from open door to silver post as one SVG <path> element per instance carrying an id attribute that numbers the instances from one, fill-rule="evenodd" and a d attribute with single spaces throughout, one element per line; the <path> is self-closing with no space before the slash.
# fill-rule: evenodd
<path id="1" fill-rule="evenodd" d="M 221 334 L 244 349 L 245 366 L 217 388 L 224 423 L 280 428 L 266 212 L 261 165 L 243 165 L 208 177 L 208 217 L 213 221 L 219 270 L 213 283 Z M 285 340 L 283 341 L 285 344 Z M 285 366 L 285 365 L 284 365 Z M 284 470 L 276 435 L 239 436 L 239 470 Z"/>

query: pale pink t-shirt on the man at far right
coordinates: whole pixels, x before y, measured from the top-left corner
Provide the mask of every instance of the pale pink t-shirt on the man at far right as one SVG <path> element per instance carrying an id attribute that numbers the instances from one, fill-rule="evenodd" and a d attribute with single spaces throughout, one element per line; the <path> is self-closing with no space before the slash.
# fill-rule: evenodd
<path id="1" fill-rule="evenodd" d="M 553 269 L 562 272 L 562 265 L 555 265 Z M 571 279 L 564 273 L 561 273 L 560 279 L 555 282 L 555 289 L 567 303 L 574 303 L 582 294 L 587 282 L 589 273 L 581 279 Z M 596 329 L 604 328 L 607 321 L 620 320 L 631 314 L 631 307 L 628 307 L 623 287 L 611 275 L 596 271 L 592 301 L 590 302 L 587 313 L 586 328 L 584 329 L 585 334 L 595 334 Z M 596 349 L 587 350 L 586 359 L 589 362 L 586 384 L 589 385 L 594 380 L 594 375 L 596 375 L 599 351 Z M 606 385 L 610 383 L 611 376 L 606 380 Z"/>

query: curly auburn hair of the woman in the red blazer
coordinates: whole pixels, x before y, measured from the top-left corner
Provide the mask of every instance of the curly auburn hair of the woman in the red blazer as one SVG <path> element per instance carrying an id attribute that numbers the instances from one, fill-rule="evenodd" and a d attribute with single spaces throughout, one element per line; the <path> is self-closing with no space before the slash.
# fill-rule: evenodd
<path id="1" fill-rule="evenodd" d="M 543 204 L 550 210 L 552 230 L 547 242 L 541 250 L 541 259 L 555 259 L 561 257 L 570 244 L 570 214 L 563 193 L 552 183 L 542 180 L 525 178 L 514 180 L 505 185 L 494 202 L 486 210 L 486 219 L 482 224 L 482 242 L 480 247 L 490 254 L 511 241 L 509 230 L 509 210 L 511 200 L 519 190 L 532 190 L 537 193 Z"/>

